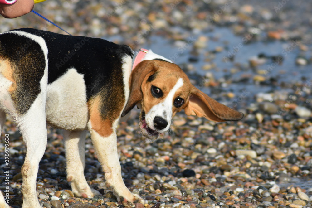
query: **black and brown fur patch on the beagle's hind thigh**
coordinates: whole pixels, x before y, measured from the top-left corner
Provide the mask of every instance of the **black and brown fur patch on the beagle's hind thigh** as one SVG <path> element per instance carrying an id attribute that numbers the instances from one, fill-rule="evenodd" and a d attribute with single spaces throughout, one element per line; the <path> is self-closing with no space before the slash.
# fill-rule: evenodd
<path id="1" fill-rule="evenodd" d="M 18 114 L 25 114 L 41 92 L 46 67 L 41 46 L 32 39 L 12 33 L 0 35 L 0 56 L 10 61 L 15 90 L 11 99 Z"/>

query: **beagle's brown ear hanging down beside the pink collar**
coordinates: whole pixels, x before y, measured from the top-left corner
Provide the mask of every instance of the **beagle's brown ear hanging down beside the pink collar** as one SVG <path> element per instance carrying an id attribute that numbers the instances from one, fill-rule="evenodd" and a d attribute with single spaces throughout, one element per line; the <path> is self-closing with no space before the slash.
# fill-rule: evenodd
<path id="1" fill-rule="evenodd" d="M 142 83 L 146 82 L 149 76 L 153 75 L 155 72 L 156 68 L 154 62 L 151 60 L 144 60 L 134 68 L 130 76 L 129 99 L 124 108 L 124 111 L 121 114 L 121 117 L 124 117 L 126 114 L 128 114 L 129 111 L 142 100 Z"/>

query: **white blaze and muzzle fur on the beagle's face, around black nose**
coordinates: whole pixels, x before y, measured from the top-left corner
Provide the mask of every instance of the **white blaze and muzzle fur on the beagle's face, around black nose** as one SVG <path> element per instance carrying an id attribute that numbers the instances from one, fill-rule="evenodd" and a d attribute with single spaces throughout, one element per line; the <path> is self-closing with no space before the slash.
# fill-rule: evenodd
<path id="1" fill-rule="evenodd" d="M 154 105 L 149 112 L 145 115 L 145 121 L 149 128 L 156 130 L 154 127 L 154 118 L 156 116 L 162 117 L 168 122 L 168 125 L 166 128 L 158 131 L 159 133 L 163 133 L 165 131 L 168 131 L 171 124 L 171 118 L 172 118 L 172 108 L 173 108 L 173 98 L 176 91 L 183 86 L 183 79 L 179 78 L 177 83 L 174 85 L 174 87 L 170 90 L 165 100 L 161 103 L 158 103 L 157 105 Z"/>

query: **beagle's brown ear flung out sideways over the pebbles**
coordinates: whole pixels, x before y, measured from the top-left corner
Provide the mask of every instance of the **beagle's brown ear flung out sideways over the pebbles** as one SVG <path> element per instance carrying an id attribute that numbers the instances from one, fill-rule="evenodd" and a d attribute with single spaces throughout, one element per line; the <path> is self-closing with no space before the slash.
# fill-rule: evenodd
<path id="1" fill-rule="evenodd" d="M 216 122 L 237 121 L 244 117 L 243 113 L 217 102 L 194 86 L 192 86 L 189 101 L 184 111 L 187 115 L 205 117 Z"/>

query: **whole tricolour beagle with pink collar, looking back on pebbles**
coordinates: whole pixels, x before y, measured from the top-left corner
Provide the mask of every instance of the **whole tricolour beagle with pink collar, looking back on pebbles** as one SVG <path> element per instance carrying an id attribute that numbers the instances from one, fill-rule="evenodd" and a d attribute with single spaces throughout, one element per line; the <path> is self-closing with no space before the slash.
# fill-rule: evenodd
<path id="1" fill-rule="evenodd" d="M 141 201 L 124 185 L 117 153 L 120 117 L 138 105 L 139 128 L 156 139 L 182 109 L 209 120 L 243 114 L 195 88 L 170 60 L 129 46 L 24 28 L 0 34 L 0 128 L 9 114 L 27 147 L 21 169 L 23 208 L 40 208 L 38 164 L 47 144 L 46 123 L 64 130 L 67 180 L 77 197 L 93 197 L 84 177 L 86 131 L 111 186 L 125 206 Z M 0 194 L 0 207 L 8 207 Z"/>

